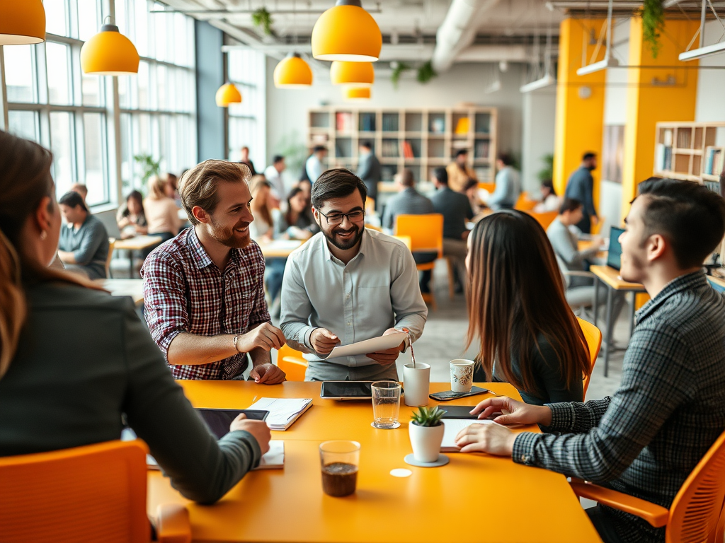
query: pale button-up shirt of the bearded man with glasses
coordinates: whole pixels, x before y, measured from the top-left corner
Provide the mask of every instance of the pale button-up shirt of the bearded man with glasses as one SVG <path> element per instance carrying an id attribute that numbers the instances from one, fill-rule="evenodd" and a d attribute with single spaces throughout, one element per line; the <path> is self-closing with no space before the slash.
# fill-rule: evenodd
<path id="1" fill-rule="evenodd" d="M 309 353 L 307 379 L 361 380 L 387 374 L 365 355 L 321 360 L 310 345 L 315 328 L 336 334 L 341 345 L 379 337 L 392 327 L 423 333 L 428 308 L 418 285 L 413 254 L 399 240 L 365 230 L 360 251 L 343 264 L 322 232 L 291 253 L 282 284 L 281 329 L 289 345 Z"/>

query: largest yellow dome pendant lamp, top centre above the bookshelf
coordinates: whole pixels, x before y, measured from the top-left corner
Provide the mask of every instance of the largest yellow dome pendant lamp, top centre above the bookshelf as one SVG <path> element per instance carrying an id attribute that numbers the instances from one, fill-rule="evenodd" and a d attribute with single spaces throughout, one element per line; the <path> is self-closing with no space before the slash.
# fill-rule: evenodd
<path id="1" fill-rule="evenodd" d="M 375 62 L 383 35 L 360 0 L 337 0 L 312 28 L 312 56 L 319 60 Z"/>

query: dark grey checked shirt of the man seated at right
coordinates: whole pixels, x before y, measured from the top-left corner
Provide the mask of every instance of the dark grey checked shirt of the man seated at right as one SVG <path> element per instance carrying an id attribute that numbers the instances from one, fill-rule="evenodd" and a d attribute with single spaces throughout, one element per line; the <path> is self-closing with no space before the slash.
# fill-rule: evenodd
<path id="1" fill-rule="evenodd" d="M 553 432 L 519 435 L 513 460 L 670 507 L 725 430 L 725 299 L 697 271 L 637 313 L 612 397 L 550 404 Z M 665 529 L 604 508 L 625 542 L 663 542 Z"/>

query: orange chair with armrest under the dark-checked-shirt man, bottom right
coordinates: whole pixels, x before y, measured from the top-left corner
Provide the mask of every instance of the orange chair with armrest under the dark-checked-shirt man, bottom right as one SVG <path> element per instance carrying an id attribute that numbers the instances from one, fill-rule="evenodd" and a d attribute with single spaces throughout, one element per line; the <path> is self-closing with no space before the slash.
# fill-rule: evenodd
<path id="1" fill-rule="evenodd" d="M 571 488 L 577 496 L 637 515 L 655 528 L 666 526 L 666 543 L 721 543 L 725 531 L 723 473 L 725 432 L 685 479 L 669 509 L 581 480 L 572 480 Z"/>

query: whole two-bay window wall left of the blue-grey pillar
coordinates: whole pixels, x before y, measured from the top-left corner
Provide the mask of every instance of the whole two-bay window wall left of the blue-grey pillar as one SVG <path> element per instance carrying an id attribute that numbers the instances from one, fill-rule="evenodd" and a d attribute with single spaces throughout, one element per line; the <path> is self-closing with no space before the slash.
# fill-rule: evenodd
<path id="1" fill-rule="evenodd" d="M 176 174 L 196 164 L 194 20 L 154 13 L 164 6 L 150 0 L 110 4 L 141 55 L 138 75 L 117 77 L 117 93 L 112 77 L 80 69 L 80 48 L 99 32 L 107 0 L 44 0 L 45 43 L 1 48 L 7 130 L 50 148 L 57 194 L 84 183 L 91 206 L 140 188 L 134 156 L 151 155 Z"/>

